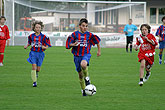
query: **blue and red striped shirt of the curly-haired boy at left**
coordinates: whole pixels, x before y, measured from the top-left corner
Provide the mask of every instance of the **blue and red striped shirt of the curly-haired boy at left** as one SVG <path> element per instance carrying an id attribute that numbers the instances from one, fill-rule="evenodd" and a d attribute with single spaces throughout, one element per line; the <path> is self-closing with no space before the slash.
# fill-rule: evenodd
<path id="1" fill-rule="evenodd" d="M 35 52 L 43 52 L 42 45 L 48 45 L 51 47 L 49 37 L 46 37 L 44 34 L 40 33 L 40 35 L 36 36 L 35 33 L 28 36 L 28 44 L 31 45 L 31 51 Z"/>

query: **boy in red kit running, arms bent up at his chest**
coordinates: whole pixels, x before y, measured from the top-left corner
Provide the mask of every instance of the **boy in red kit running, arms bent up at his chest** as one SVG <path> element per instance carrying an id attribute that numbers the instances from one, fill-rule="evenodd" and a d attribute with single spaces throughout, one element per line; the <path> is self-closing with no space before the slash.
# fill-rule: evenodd
<path id="1" fill-rule="evenodd" d="M 158 44 L 156 38 L 150 34 L 151 27 L 148 24 L 142 24 L 140 27 L 141 35 L 136 38 L 136 51 L 140 45 L 138 58 L 140 62 L 140 82 L 139 85 L 142 86 L 143 82 L 146 82 L 151 75 L 151 67 L 154 64 L 155 47 Z M 146 75 L 144 75 L 144 68 L 146 70 Z"/>

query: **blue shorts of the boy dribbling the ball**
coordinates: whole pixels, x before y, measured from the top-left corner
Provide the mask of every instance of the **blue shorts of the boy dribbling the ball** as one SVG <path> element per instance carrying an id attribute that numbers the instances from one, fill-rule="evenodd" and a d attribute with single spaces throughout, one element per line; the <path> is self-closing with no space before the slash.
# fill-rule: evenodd
<path id="1" fill-rule="evenodd" d="M 86 60 L 87 61 L 87 66 L 89 66 L 89 60 L 91 58 L 91 54 L 86 54 L 84 56 L 74 56 L 74 63 L 76 66 L 76 71 L 80 72 L 81 71 L 81 61 Z"/>

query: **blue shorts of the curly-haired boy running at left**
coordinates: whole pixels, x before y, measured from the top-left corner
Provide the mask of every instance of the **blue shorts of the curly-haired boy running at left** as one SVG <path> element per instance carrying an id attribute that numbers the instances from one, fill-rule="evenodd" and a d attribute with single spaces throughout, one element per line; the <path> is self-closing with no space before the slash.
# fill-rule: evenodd
<path id="1" fill-rule="evenodd" d="M 41 66 L 44 60 L 44 57 L 45 57 L 44 52 L 31 51 L 29 53 L 29 58 L 27 59 L 27 61 L 31 64 L 36 64 L 37 66 Z"/>

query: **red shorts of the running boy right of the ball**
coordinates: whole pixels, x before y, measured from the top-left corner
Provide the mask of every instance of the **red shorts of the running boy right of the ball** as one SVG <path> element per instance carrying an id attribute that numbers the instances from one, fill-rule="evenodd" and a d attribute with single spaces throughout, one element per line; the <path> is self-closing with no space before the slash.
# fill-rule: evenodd
<path id="1" fill-rule="evenodd" d="M 155 53 L 154 53 L 155 54 Z M 138 58 L 139 58 L 139 62 L 141 62 L 141 60 L 145 59 L 146 61 L 146 67 L 147 68 L 151 68 L 152 65 L 154 64 L 154 54 L 152 56 L 146 56 L 146 54 L 144 53 L 139 53 L 138 54 Z"/>

